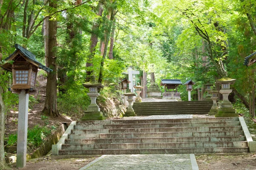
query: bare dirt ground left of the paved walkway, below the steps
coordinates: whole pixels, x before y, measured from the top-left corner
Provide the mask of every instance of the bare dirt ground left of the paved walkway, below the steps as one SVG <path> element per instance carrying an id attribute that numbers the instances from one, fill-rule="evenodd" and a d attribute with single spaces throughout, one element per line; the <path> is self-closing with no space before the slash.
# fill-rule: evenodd
<path id="1" fill-rule="evenodd" d="M 70 159 L 44 158 L 38 161 L 29 161 L 26 163 L 26 167 L 23 168 L 16 168 L 16 164 L 12 164 L 9 170 L 79 170 L 96 158 L 97 157 Z"/>

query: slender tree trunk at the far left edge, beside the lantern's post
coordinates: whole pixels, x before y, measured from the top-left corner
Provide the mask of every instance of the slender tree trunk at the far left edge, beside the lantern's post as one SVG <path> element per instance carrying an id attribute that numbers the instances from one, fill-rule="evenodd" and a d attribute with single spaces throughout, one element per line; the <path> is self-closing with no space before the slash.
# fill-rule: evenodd
<path id="1" fill-rule="evenodd" d="M 1 54 L 1 53 L 0 53 Z M 4 133 L 5 133 L 5 105 L 2 98 L 2 88 L 0 87 L 0 170 L 5 167 L 5 157 L 4 157 Z"/>

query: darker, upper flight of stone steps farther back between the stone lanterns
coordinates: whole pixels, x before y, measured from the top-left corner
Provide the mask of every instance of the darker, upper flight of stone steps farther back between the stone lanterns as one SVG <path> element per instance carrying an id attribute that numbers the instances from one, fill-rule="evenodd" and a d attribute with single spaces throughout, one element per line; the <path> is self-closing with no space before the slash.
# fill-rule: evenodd
<path id="1" fill-rule="evenodd" d="M 208 114 L 212 101 L 134 102 L 138 116 L 173 114 Z"/>

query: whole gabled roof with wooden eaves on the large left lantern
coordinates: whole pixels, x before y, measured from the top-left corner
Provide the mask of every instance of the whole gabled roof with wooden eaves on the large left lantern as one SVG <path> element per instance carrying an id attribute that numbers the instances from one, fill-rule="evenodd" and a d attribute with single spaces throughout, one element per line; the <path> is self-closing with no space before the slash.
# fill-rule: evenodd
<path id="1" fill-rule="evenodd" d="M 21 47 L 18 44 L 15 44 L 16 50 L 14 53 L 12 53 L 9 57 L 4 59 L 6 61 L 4 64 L 0 65 L 3 69 L 7 71 L 12 71 L 12 63 L 9 61 L 14 61 L 18 59 L 19 57 L 23 57 L 27 62 L 32 63 L 33 65 L 43 69 L 44 71 L 50 72 L 52 69 L 42 65 L 41 62 L 39 62 L 37 59 L 35 59 L 35 54 L 32 54 L 32 52 L 26 50 L 25 48 Z"/>

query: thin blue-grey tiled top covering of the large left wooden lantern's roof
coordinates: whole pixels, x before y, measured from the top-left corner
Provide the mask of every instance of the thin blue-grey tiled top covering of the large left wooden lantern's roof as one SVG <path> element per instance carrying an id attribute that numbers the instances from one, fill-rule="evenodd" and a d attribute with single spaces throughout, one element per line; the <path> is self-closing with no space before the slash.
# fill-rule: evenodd
<path id="1" fill-rule="evenodd" d="M 33 54 L 32 52 L 26 50 L 25 48 L 21 47 L 20 45 L 18 44 L 15 44 L 15 48 L 16 48 L 16 51 L 14 51 L 14 53 L 12 53 L 9 57 L 7 57 L 5 60 L 8 60 L 10 57 L 12 57 L 18 50 L 20 50 L 20 52 L 25 56 L 27 57 L 29 60 L 37 63 L 39 65 L 39 68 L 42 68 L 44 71 L 47 71 L 47 72 L 50 72 L 52 71 L 52 69 L 42 65 L 41 62 L 39 62 L 37 59 L 35 59 L 35 54 Z"/>

